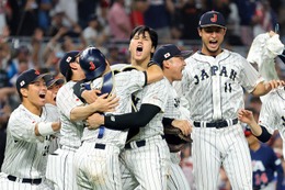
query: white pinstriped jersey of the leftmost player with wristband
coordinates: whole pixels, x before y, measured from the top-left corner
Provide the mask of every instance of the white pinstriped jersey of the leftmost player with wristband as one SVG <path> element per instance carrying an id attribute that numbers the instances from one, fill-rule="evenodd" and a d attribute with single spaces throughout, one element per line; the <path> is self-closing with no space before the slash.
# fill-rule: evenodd
<path id="1" fill-rule="evenodd" d="M 20 104 L 9 120 L 7 127 L 5 157 L 2 172 L 19 178 L 42 178 L 45 176 L 49 135 L 35 135 L 35 124 L 38 122 L 54 122 L 57 118 L 49 115 L 52 110 L 43 107 L 42 115 L 31 113 Z"/>

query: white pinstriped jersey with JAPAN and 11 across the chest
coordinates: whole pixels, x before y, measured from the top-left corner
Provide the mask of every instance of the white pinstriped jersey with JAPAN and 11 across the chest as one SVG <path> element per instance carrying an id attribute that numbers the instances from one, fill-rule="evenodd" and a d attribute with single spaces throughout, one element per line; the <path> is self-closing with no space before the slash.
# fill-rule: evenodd
<path id="1" fill-rule="evenodd" d="M 193 121 L 237 118 L 244 107 L 242 87 L 251 92 L 263 80 L 246 58 L 227 49 L 216 57 L 195 53 L 185 62 L 181 85 Z"/>

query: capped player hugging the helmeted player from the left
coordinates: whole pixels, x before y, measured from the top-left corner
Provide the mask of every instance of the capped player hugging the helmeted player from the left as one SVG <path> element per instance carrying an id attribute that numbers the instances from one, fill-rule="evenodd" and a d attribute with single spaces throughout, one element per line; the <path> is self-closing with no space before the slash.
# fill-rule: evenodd
<path id="1" fill-rule="evenodd" d="M 53 181 L 55 189 L 77 190 L 76 174 L 73 170 L 73 155 L 81 145 L 81 136 L 87 119 L 95 111 L 112 111 L 117 104 L 114 97 L 107 99 L 106 94 L 98 97 L 92 104 L 84 105 L 73 94 L 73 86 L 86 78 L 78 63 L 79 52 L 68 52 L 60 59 L 60 72 L 66 77 L 65 83 L 57 93 L 56 104 L 61 121 L 59 146 L 54 154 L 48 156 L 46 177 Z M 56 169 L 55 169 L 56 168 Z"/>

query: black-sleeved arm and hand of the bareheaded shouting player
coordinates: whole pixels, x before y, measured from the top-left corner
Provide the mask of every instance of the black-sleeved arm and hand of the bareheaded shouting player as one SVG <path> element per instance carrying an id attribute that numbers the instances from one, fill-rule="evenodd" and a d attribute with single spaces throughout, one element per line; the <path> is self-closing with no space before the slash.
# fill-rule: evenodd
<path id="1" fill-rule="evenodd" d="M 141 104 L 137 112 L 121 115 L 93 114 L 88 119 L 89 128 L 98 128 L 104 125 L 111 130 L 126 130 L 130 127 L 146 126 L 150 120 L 160 112 L 160 108 L 153 104 Z M 91 120 L 92 118 L 92 120 Z"/>

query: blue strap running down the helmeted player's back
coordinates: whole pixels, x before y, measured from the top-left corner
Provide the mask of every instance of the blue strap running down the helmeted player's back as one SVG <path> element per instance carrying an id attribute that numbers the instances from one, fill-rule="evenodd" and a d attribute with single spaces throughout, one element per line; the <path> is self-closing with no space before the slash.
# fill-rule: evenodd
<path id="1" fill-rule="evenodd" d="M 113 89 L 114 89 L 114 86 L 115 86 L 114 72 L 116 72 L 116 71 L 110 71 L 110 72 L 103 75 L 102 86 L 101 86 L 101 89 L 100 89 L 101 90 L 100 96 L 104 94 L 104 93 L 109 93 L 109 96 L 112 96 L 112 92 L 113 92 Z M 105 127 L 103 125 L 101 125 L 99 127 L 98 138 L 103 137 L 104 131 L 105 131 Z"/>

